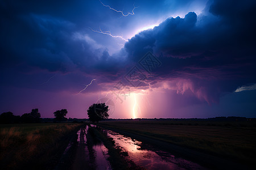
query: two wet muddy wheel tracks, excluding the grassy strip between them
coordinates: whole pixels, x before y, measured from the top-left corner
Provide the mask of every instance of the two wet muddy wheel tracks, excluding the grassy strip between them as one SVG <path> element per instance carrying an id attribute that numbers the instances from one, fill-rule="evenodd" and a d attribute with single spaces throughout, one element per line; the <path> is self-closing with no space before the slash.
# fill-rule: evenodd
<path id="1" fill-rule="evenodd" d="M 63 165 L 57 166 L 59 168 L 56 169 L 112 169 L 108 159 L 111 156 L 108 153 L 108 148 L 97 135 L 93 134 L 91 128 L 96 128 L 111 139 L 113 147 L 122 152 L 123 158 L 133 162 L 138 167 L 144 169 L 205 169 L 199 164 L 177 158 L 175 155 L 157 150 L 155 147 L 147 145 L 145 149 L 140 141 L 95 125 L 87 125 L 77 131 L 76 141 L 70 142 L 63 154 L 63 158 L 70 158 L 71 150 L 75 150 L 73 151 L 72 165 L 64 165 L 65 159 L 62 158 L 61 163 Z"/>

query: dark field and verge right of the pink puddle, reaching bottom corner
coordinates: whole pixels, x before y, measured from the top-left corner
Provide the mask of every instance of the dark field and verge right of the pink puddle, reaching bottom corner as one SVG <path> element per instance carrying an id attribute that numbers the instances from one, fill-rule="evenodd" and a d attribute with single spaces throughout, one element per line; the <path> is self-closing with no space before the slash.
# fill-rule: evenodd
<path id="1" fill-rule="evenodd" d="M 217 163 L 227 166 L 238 163 L 237 166 L 256 168 L 256 122 L 126 120 L 105 121 L 100 126 L 169 150 L 208 168 L 220 168 Z M 210 158 L 204 160 L 204 154 L 218 160 L 215 163 L 210 162 Z"/>

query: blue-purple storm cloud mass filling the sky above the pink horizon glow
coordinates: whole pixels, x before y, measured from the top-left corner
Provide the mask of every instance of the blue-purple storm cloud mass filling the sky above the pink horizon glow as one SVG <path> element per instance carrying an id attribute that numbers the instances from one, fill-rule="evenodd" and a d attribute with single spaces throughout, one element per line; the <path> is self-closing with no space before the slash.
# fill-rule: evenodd
<path id="1" fill-rule="evenodd" d="M 104 4 L 126 13 L 134 7 L 123 1 Z M 212 105 L 256 83 L 255 1 L 135 1 L 134 5 L 135 15 L 121 17 L 100 1 L 2 1 L 2 91 L 77 94 L 96 79 L 84 91 L 96 94 L 114 91 L 123 80 L 131 92 L 174 92 L 180 103 Z M 127 41 L 92 29 L 123 35 Z M 148 52 L 161 63 L 150 73 L 139 66 Z M 134 66 L 145 76 L 139 86 L 125 79 Z"/>

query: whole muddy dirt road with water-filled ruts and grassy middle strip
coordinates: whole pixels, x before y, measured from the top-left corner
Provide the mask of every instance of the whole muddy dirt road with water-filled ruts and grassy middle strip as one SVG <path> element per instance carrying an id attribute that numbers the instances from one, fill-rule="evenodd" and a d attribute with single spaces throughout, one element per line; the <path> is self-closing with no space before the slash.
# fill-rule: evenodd
<path id="1" fill-rule="evenodd" d="M 77 131 L 76 140 L 69 143 L 56 169 L 207 169 L 120 133 L 84 126 Z"/>

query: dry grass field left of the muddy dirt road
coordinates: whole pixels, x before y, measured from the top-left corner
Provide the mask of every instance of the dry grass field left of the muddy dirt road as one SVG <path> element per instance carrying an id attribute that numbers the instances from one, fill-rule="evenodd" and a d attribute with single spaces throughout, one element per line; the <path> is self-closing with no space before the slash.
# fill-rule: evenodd
<path id="1" fill-rule="evenodd" d="M 81 124 L 0 125 L 0 164 L 6 169 L 44 169 L 56 162 L 68 136 Z"/>

